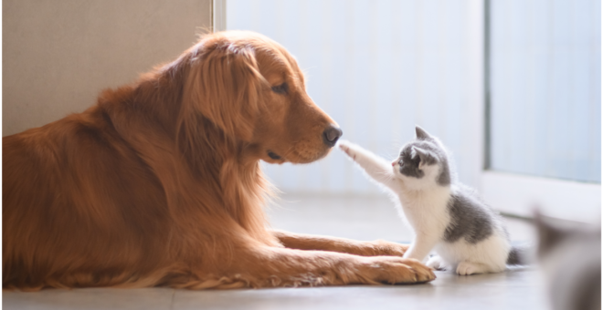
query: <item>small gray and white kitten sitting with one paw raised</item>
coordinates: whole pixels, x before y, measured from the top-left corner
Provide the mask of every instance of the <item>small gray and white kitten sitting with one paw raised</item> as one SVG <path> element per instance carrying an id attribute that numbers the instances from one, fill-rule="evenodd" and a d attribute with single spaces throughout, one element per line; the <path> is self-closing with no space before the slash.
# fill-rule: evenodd
<path id="1" fill-rule="evenodd" d="M 372 179 L 393 191 L 398 211 L 415 238 L 405 258 L 457 274 L 499 273 L 506 263 L 519 263 L 503 221 L 481 202 L 475 191 L 454 180 L 450 156 L 442 143 L 417 126 L 417 139 L 388 162 L 342 140 L 339 147 Z"/>

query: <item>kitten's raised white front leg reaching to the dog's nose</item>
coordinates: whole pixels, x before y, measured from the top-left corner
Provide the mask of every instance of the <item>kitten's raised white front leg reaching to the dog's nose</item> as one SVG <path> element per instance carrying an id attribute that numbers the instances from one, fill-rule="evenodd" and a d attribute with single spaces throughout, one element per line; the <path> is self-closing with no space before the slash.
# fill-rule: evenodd
<path id="1" fill-rule="evenodd" d="M 340 140 L 339 148 L 354 160 L 371 178 L 386 185 L 390 189 L 396 189 L 396 178 L 392 171 L 392 165 L 369 150 L 365 150 L 347 140 Z"/>

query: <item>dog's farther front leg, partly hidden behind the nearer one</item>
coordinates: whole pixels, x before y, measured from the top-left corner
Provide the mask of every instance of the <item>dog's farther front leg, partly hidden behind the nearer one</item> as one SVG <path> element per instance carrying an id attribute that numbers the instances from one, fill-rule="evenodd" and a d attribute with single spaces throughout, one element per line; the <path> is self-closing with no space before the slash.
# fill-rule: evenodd
<path id="1" fill-rule="evenodd" d="M 407 244 L 390 243 L 383 240 L 359 242 L 344 238 L 323 237 L 312 234 L 272 231 L 285 247 L 299 250 L 323 250 L 350 253 L 361 256 L 402 256 Z"/>

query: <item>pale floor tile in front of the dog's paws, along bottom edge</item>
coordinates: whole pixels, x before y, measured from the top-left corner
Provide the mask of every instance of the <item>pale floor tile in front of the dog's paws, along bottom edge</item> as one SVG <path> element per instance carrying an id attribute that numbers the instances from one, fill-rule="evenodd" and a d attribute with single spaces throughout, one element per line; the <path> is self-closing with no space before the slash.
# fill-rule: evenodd
<path id="1" fill-rule="evenodd" d="M 546 309 L 537 271 L 459 276 L 437 272 L 418 285 L 353 285 L 233 291 L 177 291 L 174 309 Z"/>

